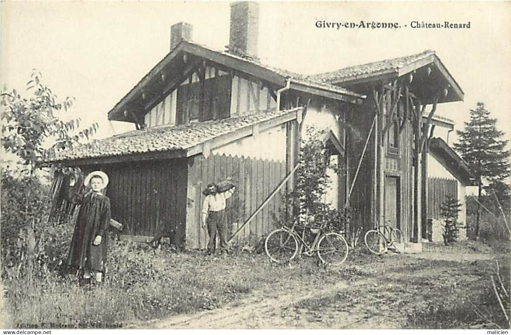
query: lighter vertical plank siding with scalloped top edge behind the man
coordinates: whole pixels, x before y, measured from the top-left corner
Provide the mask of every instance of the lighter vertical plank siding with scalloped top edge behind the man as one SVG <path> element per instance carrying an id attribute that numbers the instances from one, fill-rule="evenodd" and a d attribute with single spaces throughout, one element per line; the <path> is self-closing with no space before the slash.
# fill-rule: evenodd
<path id="1" fill-rule="evenodd" d="M 206 230 L 200 223 L 202 203 L 205 196 L 202 190 L 213 182 L 232 177 L 237 184 L 235 193 L 227 200 L 226 223 L 228 238 L 238 230 L 250 215 L 263 203 L 271 192 L 286 177 L 286 163 L 239 156 L 211 155 L 205 159 L 195 156 L 189 162 L 189 195 L 187 215 L 187 246 L 205 248 Z M 282 197 L 286 187 L 277 192 L 265 208 L 247 224 L 231 243 L 250 243 L 272 230 L 275 219 L 282 208 Z"/>

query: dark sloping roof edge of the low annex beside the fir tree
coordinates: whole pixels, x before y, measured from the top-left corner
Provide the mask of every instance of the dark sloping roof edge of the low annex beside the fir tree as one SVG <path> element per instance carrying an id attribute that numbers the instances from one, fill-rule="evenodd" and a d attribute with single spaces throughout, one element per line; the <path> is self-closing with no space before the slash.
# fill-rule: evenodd
<path id="1" fill-rule="evenodd" d="M 475 186 L 475 178 L 469 165 L 443 139 L 439 137 L 431 139 L 428 149 L 433 157 L 454 175 L 460 183 L 465 186 Z"/>

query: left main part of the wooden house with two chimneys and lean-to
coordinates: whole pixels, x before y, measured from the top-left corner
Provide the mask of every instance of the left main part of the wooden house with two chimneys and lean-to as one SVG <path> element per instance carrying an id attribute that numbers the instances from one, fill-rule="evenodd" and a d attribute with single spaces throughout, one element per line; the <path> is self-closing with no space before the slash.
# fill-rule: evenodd
<path id="1" fill-rule="evenodd" d="M 237 230 L 296 166 L 305 124 L 328 128 L 334 156 L 344 156 L 338 120 L 363 95 L 261 64 L 253 46 L 257 29 L 251 27 L 257 6 L 231 5 L 239 24 L 229 51 L 187 41 L 191 25 L 173 25 L 171 41 L 177 44 L 108 113 L 136 130 L 60 152 L 52 161 L 105 171 L 112 217 L 127 223 L 125 234 L 149 237 L 168 230 L 174 243 L 204 248 L 201 191 L 227 176 L 238 183 L 227 207 L 227 221 Z M 255 243 L 273 229 L 280 195 L 293 184 L 290 178 L 236 240 Z M 340 203 L 345 185 L 336 179 L 333 202 Z"/>

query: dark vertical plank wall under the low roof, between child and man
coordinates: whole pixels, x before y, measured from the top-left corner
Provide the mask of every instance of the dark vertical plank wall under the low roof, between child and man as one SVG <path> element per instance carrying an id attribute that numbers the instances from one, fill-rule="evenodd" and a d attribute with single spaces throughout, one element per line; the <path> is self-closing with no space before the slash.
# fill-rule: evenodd
<path id="1" fill-rule="evenodd" d="M 126 223 L 122 234 L 154 236 L 172 231 L 180 243 L 185 231 L 187 167 L 184 159 L 115 164 L 103 169 L 112 218 Z"/>

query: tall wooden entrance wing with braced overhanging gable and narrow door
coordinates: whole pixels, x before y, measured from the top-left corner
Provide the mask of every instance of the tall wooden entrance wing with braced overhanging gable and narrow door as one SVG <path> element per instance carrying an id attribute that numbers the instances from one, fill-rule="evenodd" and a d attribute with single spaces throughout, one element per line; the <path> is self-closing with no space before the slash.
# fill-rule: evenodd
<path id="1" fill-rule="evenodd" d="M 462 100 L 461 88 L 430 50 L 311 78 L 368 96 L 349 119 L 364 130 L 362 138 L 370 138 L 362 177 L 350 199 L 356 221 L 365 228 L 385 223 L 398 227 L 407 248 L 421 250 L 427 220 L 428 142 L 435 126 L 444 124 L 434 113 L 437 104 Z M 349 161 L 360 158 L 356 146 L 346 147 Z"/>

